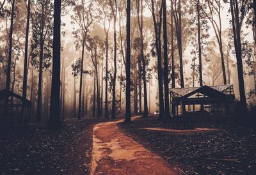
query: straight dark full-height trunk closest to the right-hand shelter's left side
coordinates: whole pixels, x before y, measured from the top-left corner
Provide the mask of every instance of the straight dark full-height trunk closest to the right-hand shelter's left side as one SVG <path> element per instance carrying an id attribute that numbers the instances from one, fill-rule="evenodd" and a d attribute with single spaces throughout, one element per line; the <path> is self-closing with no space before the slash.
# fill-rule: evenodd
<path id="1" fill-rule="evenodd" d="M 166 0 L 163 0 L 163 38 L 164 38 L 164 116 L 170 116 L 169 103 L 169 79 L 168 79 L 168 47 L 167 47 L 167 25 L 166 25 Z"/>

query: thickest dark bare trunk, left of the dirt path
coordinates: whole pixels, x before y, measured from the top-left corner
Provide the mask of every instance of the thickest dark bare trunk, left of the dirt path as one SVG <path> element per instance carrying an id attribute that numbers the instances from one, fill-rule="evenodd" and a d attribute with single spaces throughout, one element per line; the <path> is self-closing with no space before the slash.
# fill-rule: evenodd
<path id="1" fill-rule="evenodd" d="M 52 57 L 52 86 L 50 123 L 60 123 L 60 58 L 61 58 L 61 1 L 54 0 L 54 30 Z"/>

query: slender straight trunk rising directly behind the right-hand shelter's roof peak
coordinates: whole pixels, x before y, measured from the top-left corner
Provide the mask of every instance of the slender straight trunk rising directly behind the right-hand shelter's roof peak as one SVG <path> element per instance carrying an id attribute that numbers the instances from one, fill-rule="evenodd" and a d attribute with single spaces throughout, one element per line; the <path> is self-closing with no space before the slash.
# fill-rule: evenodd
<path id="1" fill-rule="evenodd" d="M 201 26 L 200 26 L 200 0 L 196 3 L 197 11 L 197 40 L 198 40 L 198 58 L 199 58 L 199 84 L 203 86 L 203 73 L 202 73 L 202 48 L 201 48 Z"/>

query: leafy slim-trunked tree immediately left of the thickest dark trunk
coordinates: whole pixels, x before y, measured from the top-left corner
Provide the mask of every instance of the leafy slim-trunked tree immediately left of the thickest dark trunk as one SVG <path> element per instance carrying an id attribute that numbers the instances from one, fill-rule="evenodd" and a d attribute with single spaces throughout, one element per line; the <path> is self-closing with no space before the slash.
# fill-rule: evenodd
<path id="1" fill-rule="evenodd" d="M 51 1 L 36 0 L 31 3 L 31 21 L 32 21 L 32 42 L 31 57 L 39 57 L 39 76 L 38 76 L 38 95 L 36 121 L 41 121 L 42 106 L 42 74 L 43 69 L 47 70 L 51 65 L 51 48 L 53 34 L 53 4 Z M 36 61 L 37 62 L 37 61 Z"/>

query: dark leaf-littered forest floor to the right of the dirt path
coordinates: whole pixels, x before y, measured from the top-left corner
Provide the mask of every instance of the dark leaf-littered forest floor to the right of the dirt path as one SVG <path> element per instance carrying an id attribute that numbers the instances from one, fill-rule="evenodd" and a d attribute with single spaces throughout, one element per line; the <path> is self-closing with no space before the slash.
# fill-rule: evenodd
<path id="1" fill-rule="evenodd" d="M 186 174 L 255 174 L 256 130 L 212 125 L 216 130 L 162 130 L 157 118 L 138 118 L 118 127 Z"/>

